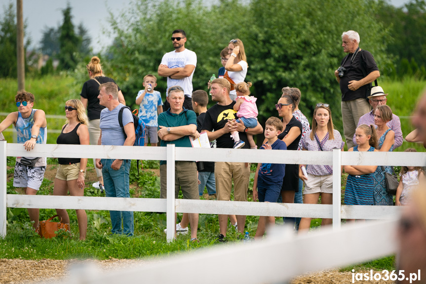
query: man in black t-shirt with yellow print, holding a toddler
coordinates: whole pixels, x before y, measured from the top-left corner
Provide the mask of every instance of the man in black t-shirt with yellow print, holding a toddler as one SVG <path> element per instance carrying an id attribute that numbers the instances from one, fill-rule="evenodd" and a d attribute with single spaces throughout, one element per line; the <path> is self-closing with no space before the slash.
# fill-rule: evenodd
<path id="1" fill-rule="evenodd" d="M 236 112 L 233 110 L 234 101 L 229 97 L 231 84 L 226 79 L 216 79 L 211 82 L 210 94 L 217 102 L 207 110 L 202 124 L 202 132 L 206 131 L 210 141 L 216 139 L 217 148 L 233 147 L 230 132 L 238 130 L 239 137 L 245 142 L 243 148 L 249 148 L 246 133 L 256 135 L 263 132 L 259 124 L 255 128 L 244 127 L 244 123 L 235 122 Z M 214 130 L 214 131 L 213 131 Z M 213 132 L 212 132 L 213 131 Z M 235 150 L 238 151 L 238 150 Z M 231 199 L 232 179 L 234 182 L 234 201 L 247 201 L 247 190 L 250 181 L 250 164 L 244 162 L 215 162 L 215 180 L 217 200 Z M 238 231 L 244 234 L 244 215 L 237 215 Z M 228 227 L 228 215 L 219 215 L 219 242 L 225 242 Z"/>

